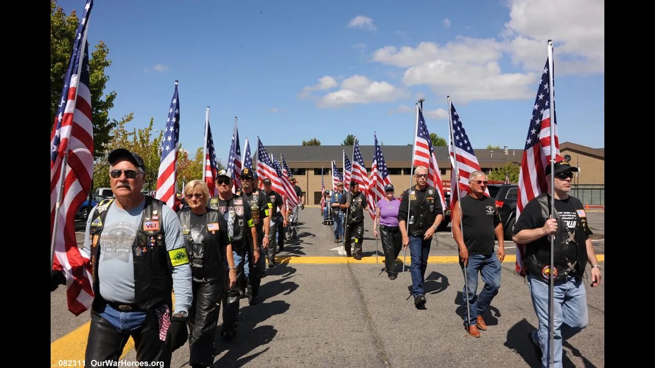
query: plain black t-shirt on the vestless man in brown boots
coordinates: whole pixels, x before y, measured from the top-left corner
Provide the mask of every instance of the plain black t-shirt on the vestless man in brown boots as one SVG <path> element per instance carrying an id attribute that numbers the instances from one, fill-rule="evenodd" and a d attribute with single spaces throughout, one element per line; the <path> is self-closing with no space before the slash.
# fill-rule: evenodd
<path id="1" fill-rule="evenodd" d="M 464 244 L 468 254 L 493 254 L 496 225 L 500 223 L 495 200 L 488 196 L 477 199 L 467 195 L 462 198 L 461 206 Z"/>

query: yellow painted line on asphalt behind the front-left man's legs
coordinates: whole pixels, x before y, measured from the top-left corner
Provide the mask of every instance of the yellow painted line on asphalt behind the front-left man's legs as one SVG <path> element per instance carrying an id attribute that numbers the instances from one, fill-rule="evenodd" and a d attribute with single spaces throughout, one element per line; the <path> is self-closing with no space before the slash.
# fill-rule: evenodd
<path id="1" fill-rule="evenodd" d="M 63 337 L 55 340 L 50 344 L 50 366 L 58 367 L 59 361 L 77 361 L 84 359 L 84 352 L 86 352 L 86 341 L 88 340 L 88 331 L 91 327 L 91 322 L 86 322 L 80 327 L 67 333 Z M 132 337 L 127 341 L 121 358 L 126 356 L 130 350 L 134 349 L 134 340 Z"/>

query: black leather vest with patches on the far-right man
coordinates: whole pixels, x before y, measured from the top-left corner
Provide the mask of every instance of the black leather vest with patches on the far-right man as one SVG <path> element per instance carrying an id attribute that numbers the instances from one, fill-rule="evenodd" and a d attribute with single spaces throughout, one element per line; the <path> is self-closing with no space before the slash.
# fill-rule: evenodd
<path id="1" fill-rule="evenodd" d="M 542 218 L 548 219 L 550 213 L 550 196 L 542 193 L 535 198 L 541 208 Z M 553 213 L 553 218 L 557 219 L 557 232 L 555 232 L 555 242 L 553 249 L 555 251 L 555 282 L 566 279 L 567 274 L 574 274 L 576 279 L 580 280 L 584 275 L 584 268 L 587 262 L 587 246 L 585 243 L 586 217 L 580 217 L 584 213 L 582 202 L 578 198 L 571 197 L 574 208 L 576 209 L 576 227 L 574 234 L 569 234 L 567 224 L 561 219 L 557 210 Z M 580 210 L 583 210 L 582 212 Z M 571 236 L 573 235 L 573 236 Z M 574 238 L 574 240 L 572 240 Z M 528 272 L 534 276 L 542 276 L 548 280 L 550 269 L 550 238 L 547 242 L 539 244 L 528 244 L 525 247 L 526 267 Z M 578 259 L 567 259 L 569 247 L 576 247 Z M 572 273 L 573 272 L 573 273 Z"/>

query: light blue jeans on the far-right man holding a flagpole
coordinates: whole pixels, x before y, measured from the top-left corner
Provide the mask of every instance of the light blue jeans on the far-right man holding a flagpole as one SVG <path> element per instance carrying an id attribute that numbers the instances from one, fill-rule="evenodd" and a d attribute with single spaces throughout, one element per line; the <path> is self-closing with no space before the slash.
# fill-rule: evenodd
<path id="1" fill-rule="evenodd" d="M 548 288 L 550 282 L 544 278 L 528 275 L 528 286 L 530 296 L 533 299 L 534 312 L 539 320 L 539 329 L 533 331 L 533 339 L 538 341 L 543 353 L 541 366 L 548 367 L 550 358 L 550 335 L 548 329 Z M 582 279 L 576 282 L 573 276 L 567 276 L 567 280 L 556 282 L 553 289 L 553 367 L 562 366 L 562 323 L 569 328 L 566 329 L 567 337 L 575 333 L 589 323 L 587 310 L 587 292 L 582 285 Z M 535 335 L 536 334 L 536 335 Z"/>

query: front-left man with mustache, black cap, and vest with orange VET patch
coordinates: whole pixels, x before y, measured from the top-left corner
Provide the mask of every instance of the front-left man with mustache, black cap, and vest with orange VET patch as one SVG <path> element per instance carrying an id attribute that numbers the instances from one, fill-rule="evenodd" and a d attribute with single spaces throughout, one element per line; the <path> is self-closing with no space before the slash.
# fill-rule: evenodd
<path id="1" fill-rule="evenodd" d="M 138 361 L 169 367 L 172 351 L 187 340 L 191 305 L 191 268 L 179 220 L 164 202 L 141 193 L 145 165 L 139 155 L 115 149 L 109 164 L 115 198 L 92 210 L 82 249 L 90 253 L 94 291 L 86 366 L 117 362 L 132 336 Z"/>

